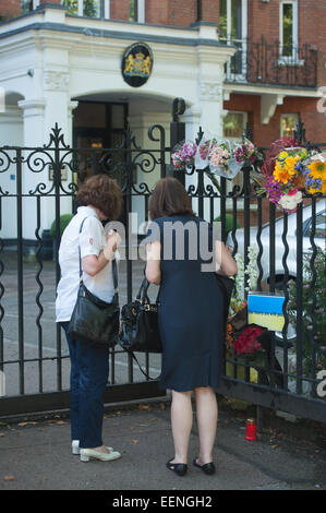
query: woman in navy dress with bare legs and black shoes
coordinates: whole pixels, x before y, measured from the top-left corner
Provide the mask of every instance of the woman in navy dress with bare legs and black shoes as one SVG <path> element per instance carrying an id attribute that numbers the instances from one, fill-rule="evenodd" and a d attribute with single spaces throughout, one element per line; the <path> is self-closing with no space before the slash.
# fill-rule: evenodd
<path id="1" fill-rule="evenodd" d="M 146 240 L 146 277 L 160 285 L 160 387 L 172 391 L 174 457 L 167 467 L 181 476 L 186 473 L 194 391 L 200 451 L 193 464 L 205 474 L 214 474 L 218 417 L 215 389 L 224 346 L 224 297 L 214 274 L 218 271 L 233 275 L 237 263 L 217 240 L 214 228 L 194 215 L 191 199 L 179 180 L 158 181 L 149 211 L 153 223 Z"/>

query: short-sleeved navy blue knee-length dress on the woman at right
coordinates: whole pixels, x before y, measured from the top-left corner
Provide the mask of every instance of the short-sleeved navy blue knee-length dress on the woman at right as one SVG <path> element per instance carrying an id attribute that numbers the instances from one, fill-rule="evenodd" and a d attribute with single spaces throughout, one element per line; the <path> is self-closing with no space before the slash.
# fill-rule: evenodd
<path id="1" fill-rule="evenodd" d="M 192 231 L 183 229 L 182 232 L 182 227 L 190 226 L 189 222 L 193 223 Z M 203 260 L 200 253 L 200 232 L 203 228 L 204 231 L 207 229 L 212 251 L 213 228 L 194 216 L 166 216 L 153 223 L 156 226 L 153 229 L 150 224 L 148 238 L 161 243 L 158 319 L 164 353 L 160 389 L 179 392 L 201 386 L 216 389 L 221 374 L 224 350 L 224 297 L 215 273 L 203 272 L 202 264 L 206 259 Z M 197 241 L 194 241 L 194 229 Z M 183 260 L 180 259 L 180 243 L 184 243 Z M 196 246 L 198 251 L 194 254 Z"/>

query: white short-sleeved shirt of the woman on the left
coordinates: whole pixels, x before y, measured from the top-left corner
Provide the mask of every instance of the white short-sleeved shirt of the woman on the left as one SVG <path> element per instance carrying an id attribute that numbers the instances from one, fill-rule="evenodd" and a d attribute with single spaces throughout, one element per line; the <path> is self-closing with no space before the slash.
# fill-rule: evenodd
<path id="1" fill-rule="evenodd" d="M 83 219 L 82 234 L 80 228 Z M 89 206 L 80 206 L 76 215 L 71 219 L 63 231 L 59 248 L 59 264 L 61 269 L 61 279 L 57 288 L 56 321 L 70 321 L 80 287 L 80 258 L 79 244 L 81 246 L 81 258 L 89 254 L 99 255 L 106 246 L 104 227 L 96 214 Z M 118 255 L 116 254 L 116 258 Z M 112 263 L 109 262 L 95 276 L 83 272 L 85 286 L 104 301 L 111 301 L 114 287 L 112 277 Z"/>

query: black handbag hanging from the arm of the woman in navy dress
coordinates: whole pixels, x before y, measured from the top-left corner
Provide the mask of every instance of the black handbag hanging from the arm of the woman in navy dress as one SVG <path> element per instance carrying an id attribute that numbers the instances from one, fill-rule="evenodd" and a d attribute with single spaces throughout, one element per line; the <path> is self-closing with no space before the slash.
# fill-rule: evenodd
<path id="1" fill-rule="evenodd" d="M 162 353 L 162 343 L 158 330 L 159 293 L 156 302 L 150 303 L 147 294 L 148 287 L 149 283 L 144 278 L 135 301 L 122 307 L 118 344 L 132 356 L 141 372 L 148 380 L 157 380 L 158 378 L 150 378 L 147 372 L 142 369 L 134 355 L 134 351 Z"/>

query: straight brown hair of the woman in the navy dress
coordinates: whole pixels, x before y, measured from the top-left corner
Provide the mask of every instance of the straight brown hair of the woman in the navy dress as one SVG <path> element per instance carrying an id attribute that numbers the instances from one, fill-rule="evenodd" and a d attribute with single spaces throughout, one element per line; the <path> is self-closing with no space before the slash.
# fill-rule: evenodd
<path id="1" fill-rule="evenodd" d="M 152 219 L 171 215 L 195 215 L 191 198 L 177 178 L 161 178 L 154 189 L 149 200 Z"/>

